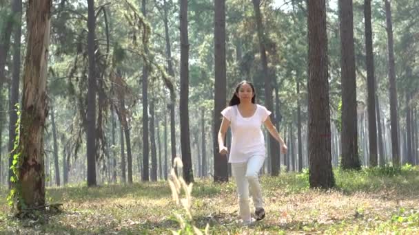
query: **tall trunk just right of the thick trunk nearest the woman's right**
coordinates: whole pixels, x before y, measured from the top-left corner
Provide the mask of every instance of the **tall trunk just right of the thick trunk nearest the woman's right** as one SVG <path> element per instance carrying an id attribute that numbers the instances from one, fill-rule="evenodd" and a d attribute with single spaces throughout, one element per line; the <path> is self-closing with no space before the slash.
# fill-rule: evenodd
<path id="1" fill-rule="evenodd" d="M 339 0 L 342 79 L 342 168 L 359 169 L 352 0 Z"/>

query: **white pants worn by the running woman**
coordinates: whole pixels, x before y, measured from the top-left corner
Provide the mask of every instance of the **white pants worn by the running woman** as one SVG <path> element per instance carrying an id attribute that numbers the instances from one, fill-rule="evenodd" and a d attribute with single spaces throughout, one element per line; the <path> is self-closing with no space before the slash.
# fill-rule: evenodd
<path id="1" fill-rule="evenodd" d="M 238 205 L 243 221 L 250 221 L 249 190 L 255 208 L 263 208 L 262 190 L 258 173 L 263 166 L 265 156 L 254 155 L 243 163 L 232 163 L 232 173 L 236 179 Z"/>

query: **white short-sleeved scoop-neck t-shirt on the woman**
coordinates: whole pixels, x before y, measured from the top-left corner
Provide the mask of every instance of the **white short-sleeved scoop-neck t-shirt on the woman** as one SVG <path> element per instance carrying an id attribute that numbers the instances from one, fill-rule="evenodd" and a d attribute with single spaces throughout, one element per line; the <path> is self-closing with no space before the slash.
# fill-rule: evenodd
<path id="1" fill-rule="evenodd" d="M 228 162 L 245 162 L 253 155 L 265 157 L 265 138 L 260 126 L 271 114 L 269 110 L 256 104 L 256 111 L 252 117 L 242 117 L 237 105 L 233 105 L 225 108 L 221 114 L 229 120 L 232 128 L 232 146 L 229 149 Z"/>

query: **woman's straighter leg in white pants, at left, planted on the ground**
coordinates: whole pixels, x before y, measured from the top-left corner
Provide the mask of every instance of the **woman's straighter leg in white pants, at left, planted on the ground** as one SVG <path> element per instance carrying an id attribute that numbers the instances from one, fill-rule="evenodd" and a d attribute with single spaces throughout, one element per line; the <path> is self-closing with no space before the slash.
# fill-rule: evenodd
<path id="1" fill-rule="evenodd" d="M 251 221 L 249 205 L 249 183 L 245 177 L 247 163 L 232 163 L 232 173 L 236 179 L 238 206 L 243 221 Z"/>

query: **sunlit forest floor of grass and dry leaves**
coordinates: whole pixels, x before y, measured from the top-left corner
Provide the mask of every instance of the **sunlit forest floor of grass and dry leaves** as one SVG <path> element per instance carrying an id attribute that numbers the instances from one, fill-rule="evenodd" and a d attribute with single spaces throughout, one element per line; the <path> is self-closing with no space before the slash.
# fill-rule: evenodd
<path id="1" fill-rule="evenodd" d="M 310 190 L 307 171 L 261 177 L 267 216 L 249 227 L 238 221 L 234 179 L 197 179 L 186 225 L 203 232 L 209 224 L 209 234 L 419 234 L 418 168 L 334 175 L 328 191 Z M 16 219 L 0 192 L 0 234 L 172 234 L 181 230 L 174 215 L 187 217 L 167 181 L 47 188 L 46 197 L 63 203 L 61 212 Z"/>

